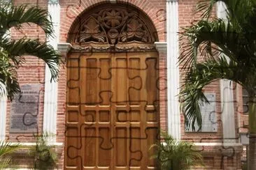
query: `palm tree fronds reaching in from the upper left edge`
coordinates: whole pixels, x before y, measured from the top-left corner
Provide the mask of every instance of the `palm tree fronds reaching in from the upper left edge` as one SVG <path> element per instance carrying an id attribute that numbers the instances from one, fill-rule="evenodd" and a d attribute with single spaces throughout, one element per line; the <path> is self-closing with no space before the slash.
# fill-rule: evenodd
<path id="1" fill-rule="evenodd" d="M 36 6 L 13 6 L 0 0 L 0 95 L 7 95 L 10 100 L 15 93 L 20 93 L 16 70 L 25 63 L 24 55 L 37 56 L 45 61 L 50 68 L 51 80 L 56 81 L 59 73 L 60 56 L 52 46 L 26 36 L 19 40 L 10 38 L 9 30 L 22 29 L 22 24 L 25 23 L 37 24 L 46 36 L 53 35 L 54 30 L 47 10 Z"/>

